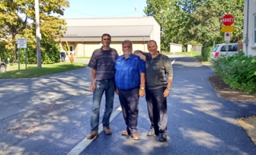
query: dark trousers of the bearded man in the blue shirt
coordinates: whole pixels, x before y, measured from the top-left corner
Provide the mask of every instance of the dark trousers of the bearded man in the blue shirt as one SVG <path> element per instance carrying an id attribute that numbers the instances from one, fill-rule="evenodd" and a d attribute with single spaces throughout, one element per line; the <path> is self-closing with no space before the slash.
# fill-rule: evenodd
<path id="1" fill-rule="evenodd" d="M 122 115 L 126 121 L 128 133 L 137 133 L 138 124 L 138 87 L 130 90 L 118 90 L 118 97 L 122 107 Z"/>

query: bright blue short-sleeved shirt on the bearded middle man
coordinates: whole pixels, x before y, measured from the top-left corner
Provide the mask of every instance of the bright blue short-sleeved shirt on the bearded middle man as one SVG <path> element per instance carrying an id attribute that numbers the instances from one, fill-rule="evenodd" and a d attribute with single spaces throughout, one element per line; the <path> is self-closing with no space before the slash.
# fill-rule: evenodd
<path id="1" fill-rule="evenodd" d="M 129 90 L 140 85 L 140 73 L 145 73 L 145 62 L 131 54 L 130 58 L 119 56 L 114 63 L 114 80 L 118 89 Z"/>

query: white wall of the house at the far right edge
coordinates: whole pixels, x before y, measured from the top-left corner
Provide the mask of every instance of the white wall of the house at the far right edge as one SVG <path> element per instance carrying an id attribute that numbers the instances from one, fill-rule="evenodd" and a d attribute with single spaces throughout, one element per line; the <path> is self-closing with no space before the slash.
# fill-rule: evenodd
<path id="1" fill-rule="evenodd" d="M 246 55 L 256 56 L 256 2 L 255 0 L 245 0 L 244 5 L 244 22 L 243 22 L 243 37 L 244 46 L 243 52 Z"/>

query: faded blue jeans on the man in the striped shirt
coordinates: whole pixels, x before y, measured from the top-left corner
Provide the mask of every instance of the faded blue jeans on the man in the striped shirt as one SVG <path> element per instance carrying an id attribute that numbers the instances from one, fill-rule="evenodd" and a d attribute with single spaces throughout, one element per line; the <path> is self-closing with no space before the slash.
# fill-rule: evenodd
<path id="1" fill-rule="evenodd" d="M 106 105 L 105 112 L 102 118 L 102 125 L 110 125 L 110 115 L 113 111 L 114 104 L 114 79 L 111 80 L 96 80 L 95 89 L 93 94 L 93 105 L 90 116 L 90 127 L 91 131 L 98 132 L 99 124 L 99 110 L 102 101 L 102 95 L 105 92 Z"/>

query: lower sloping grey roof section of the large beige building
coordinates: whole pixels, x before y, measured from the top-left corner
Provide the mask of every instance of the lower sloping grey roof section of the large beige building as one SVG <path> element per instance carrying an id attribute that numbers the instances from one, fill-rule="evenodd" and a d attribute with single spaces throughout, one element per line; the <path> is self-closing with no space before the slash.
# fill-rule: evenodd
<path id="1" fill-rule="evenodd" d="M 67 26 L 64 38 L 102 37 L 110 34 L 115 37 L 149 37 L 153 26 Z"/>

